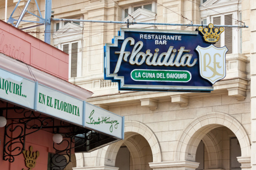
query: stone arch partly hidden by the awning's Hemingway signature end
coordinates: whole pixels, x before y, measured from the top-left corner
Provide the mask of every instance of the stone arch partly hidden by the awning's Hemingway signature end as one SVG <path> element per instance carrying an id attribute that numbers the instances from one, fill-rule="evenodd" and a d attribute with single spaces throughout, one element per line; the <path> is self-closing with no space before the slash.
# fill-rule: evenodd
<path id="1" fill-rule="evenodd" d="M 102 155 L 104 166 L 118 167 L 119 170 L 151 170 L 149 162 L 161 161 L 156 136 L 138 121 L 126 121 L 124 126 L 124 140 L 109 145 Z M 129 161 L 125 162 L 125 158 Z"/>

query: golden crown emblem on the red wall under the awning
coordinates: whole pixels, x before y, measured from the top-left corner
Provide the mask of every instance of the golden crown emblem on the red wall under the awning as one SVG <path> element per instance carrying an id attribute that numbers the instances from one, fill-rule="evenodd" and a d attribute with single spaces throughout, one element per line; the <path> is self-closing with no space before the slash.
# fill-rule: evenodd
<path id="1" fill-rule="evenodd" d="M 39 156 L 39 151 L 33 152 L 32 146 L 29 147 L 29 150 L 30 151 L 23 150 L 23 154 L 24 154 L 24 158 L 25 158 L 26 167 L 28 167 L 29 170 L 31 170 L 32 168 L 34 168 L 36 166 L 36 159 Z"/>

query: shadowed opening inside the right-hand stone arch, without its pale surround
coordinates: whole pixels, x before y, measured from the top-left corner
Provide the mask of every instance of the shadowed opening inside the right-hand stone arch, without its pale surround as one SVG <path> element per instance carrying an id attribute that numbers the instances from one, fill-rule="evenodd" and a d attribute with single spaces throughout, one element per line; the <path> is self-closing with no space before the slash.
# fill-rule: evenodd
<path id="1" fill-rule="evenodd" d="M 236 157 L 241 156 L 240 143 L 236 135 L 227 127 L 217 127 L 208 132 L 196 150 L 196 170 L 230 169 L 241 170 Z"/>

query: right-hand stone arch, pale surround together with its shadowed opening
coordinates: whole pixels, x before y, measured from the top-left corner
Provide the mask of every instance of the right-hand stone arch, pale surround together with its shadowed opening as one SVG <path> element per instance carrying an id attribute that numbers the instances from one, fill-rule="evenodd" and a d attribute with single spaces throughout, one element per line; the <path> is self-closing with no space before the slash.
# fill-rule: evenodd
<path id="1" fill-rule="evenodd" d="M 200 142 L 201 145 L 204 144 L 203 147 Z M 198 146 L 201 146 L 200 150 Z M 240 165 L 238 159 L 243 159 L 242 163 L 245 164 L 250 162 L 250 141 L 246 131 L 234 117 L 225 113 L 206 113 L 191 121 L 184 129 L 178 142 L 176 160 L 196 162 L 199 151 L 201 156 L 203 154 L 200 159 L 203 159 L 204 165 L 199 166 L 198 170 L 232 168 L 239 170 L 239 166 L 243 167 L 243 164 Z M 240 157 L 236 159 L 236 155 Z"/>

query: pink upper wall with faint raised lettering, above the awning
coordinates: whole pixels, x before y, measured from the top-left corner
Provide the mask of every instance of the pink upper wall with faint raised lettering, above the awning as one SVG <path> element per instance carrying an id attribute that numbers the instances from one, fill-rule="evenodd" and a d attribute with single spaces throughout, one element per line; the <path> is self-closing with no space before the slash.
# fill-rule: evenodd
<path id="1" fill-rule="evenodd" d="M 68 81 L 68 54 L 1 20 L 0 53 Z"/>

